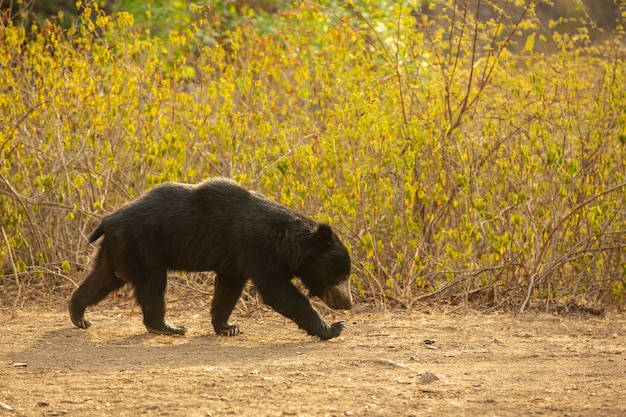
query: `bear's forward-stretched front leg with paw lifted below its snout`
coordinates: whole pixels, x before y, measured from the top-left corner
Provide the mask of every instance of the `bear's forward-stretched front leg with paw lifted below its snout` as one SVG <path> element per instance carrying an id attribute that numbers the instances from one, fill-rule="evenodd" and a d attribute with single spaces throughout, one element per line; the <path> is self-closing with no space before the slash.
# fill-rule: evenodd
<path id="1" fill-rule="evenodd" d="M 263 302 L 293 320 L 311 336 L 328 340 L 339 336 L 345 328 L 342 322 L 330 326 L 326 324 L 304 294 L 289 281 L 273 282 L 271 285 L 260 283 L 256 284 L 256 287 L 263 297 Z"/>

